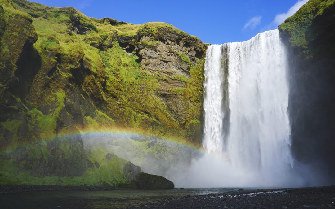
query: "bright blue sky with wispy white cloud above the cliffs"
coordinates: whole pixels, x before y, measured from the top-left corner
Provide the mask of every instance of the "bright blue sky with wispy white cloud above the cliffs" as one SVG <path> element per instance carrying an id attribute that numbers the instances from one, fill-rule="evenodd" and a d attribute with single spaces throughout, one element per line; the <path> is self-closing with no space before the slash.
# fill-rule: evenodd
<path id="1" fill-rule="evenodd" d="M 277 28 L 307 0 L 33 0 L 47 6 L 72 6 L 95 18 L 141 24 L 167 22 L 205 43 L 244 41 Z"/>

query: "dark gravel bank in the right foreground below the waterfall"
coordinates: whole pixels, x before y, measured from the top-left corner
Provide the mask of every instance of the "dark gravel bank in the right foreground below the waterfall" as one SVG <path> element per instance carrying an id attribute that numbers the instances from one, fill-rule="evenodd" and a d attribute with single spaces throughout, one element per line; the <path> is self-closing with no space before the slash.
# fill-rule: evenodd
<path id="1" fill-rule="evenodd" d="M 142 204 L 139 208 L 335 208 L 335 186 L 187 196 Z"/>

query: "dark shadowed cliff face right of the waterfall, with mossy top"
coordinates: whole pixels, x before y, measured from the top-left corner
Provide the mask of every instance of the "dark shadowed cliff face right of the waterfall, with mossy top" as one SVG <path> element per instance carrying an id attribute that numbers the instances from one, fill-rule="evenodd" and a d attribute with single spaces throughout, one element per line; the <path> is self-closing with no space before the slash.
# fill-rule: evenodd
<path id="1" fill-rule="evenodd" d="M 293 154 L 334 182 L 335 1 L 308 1 L 279 30 L 290 53 Z"/>

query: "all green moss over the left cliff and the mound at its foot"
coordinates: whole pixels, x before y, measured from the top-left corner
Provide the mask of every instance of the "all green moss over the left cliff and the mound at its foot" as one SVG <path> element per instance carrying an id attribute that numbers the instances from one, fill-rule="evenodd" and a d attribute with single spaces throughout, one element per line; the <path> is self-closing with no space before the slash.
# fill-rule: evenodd
<path id="1" fill-rule="evenodd" d="M 14 151 L 6 155 L 6 160 L 0 159 L 0 183 L 127 184 L 123 168 L 129 162 L 116 156 L 107 161 L 108 152 L 102 147 L 91 151 L 87 149 L 86 155 L 83 155 L 81 139 L 73 142 L 68 138 L 55 138 L 81 128 L 121 127 L 148 135 L 185 140 L 188 137 L 187 128 L 199 124 L 196 121 L 202 105 L 203 60 L 194 61 L 192 58 L 191 62 L 187 52 L 176 54 L 190 72 L 190 78 L 182 75 L 172 78 L 185 82 L 185 88 L 170 89 L 172 94 L 178 94 L 178 98 L 183 100 L 187 112 L 186 124 L 181 126 L 159 94 L 159 82 L 168 81 L 171 77 L 154 74 L 144 65 L 140 66 L 139 57 L 126 53 L 116 41 L 123 38 L 130 40 L 129 43 L 135 47 L 134 53 L 137 53 L 141 47 L 155 48 L 159 40 L 166 37 L 172 38 L 171 41 L 182 38 L 192 43 L 199 41 L 196 37 L 161 22 L 122 24 L 113 19 L 88 18 L 71 7 L 47 7 L 25 0 L 2 3 L 0 28 L 4 24 L 15 27 L 6 31 L 0 29 L 0 74 L 10 75 L 0 79 L 0 96 L 3 91 L 10 91 L 7 81 L 17 81 L 16 63 L 23 50 L 22 44 L 38 39 L 26 51 L 27 54 L 36 54 L 37 58 L 33 69 L 36 72 L 31 72 L 34 75 L 31 75 L 29 83 L 27 81 L 31 91 L 20 97 L 13 96 L 8 103 L 3 101 L 7 106 L 10 104 L 12 111 L 20 117 L 16 119 L 16 115 L 7 115 L 11 118 L 1 123 L 1 130 L 14 136 L 12 142 L 8 140 L 8 143 L 13 143 L 8 147 Z M 9 23 L 9 20 L 12 22 Z M 21 39 L 24 41 L 20 45 Z M 28 65 L 29 62 L 26 63 Z M 26 138 L 22 137 L 22 133 L 17 134 L 23 128 L 28 129 Z M 6 140 L 0 134 L 0 143 Z M 164 148 L 164 145 L 157 144 L 149 149 L 148 141 L 130 140 L 129 143 L 133 152 L 138 154 L 138 163 L 149 152 L 157 156 L 160 154 L 160 159 L 166 157 L 171 160 L 173 157 L 171 148 Z M 8 144 L 5 145 L 7 147 Z M 15 154 L 18 154 L 15 159 L 24 156 L 23 160 L 14 161 Z M 68 162 L 76 165 L 73 162 L 80 162 L 77 158 L 88 158 L 91 163 L 98 162 L 100 167 L 82 166 L 85 169 L 83 173 L 71 176 L 69 168 L 63 166 Z M 54 174 L 47 172 L 50 168 Z"/>

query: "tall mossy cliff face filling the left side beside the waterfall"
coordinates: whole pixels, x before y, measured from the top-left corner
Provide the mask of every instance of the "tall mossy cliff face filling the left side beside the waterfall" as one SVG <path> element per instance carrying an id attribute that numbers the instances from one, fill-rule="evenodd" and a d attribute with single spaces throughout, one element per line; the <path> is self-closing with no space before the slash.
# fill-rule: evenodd
<path id="1" fill-rule="evenodd" d="M 166 23 L 134 25 L 71 7 L 0 2 L 1 165 L 38 167 L 36 177 L 94 172 L 80 135 L 62 142 L 83 130 L 126 129 L 201 144 L 200 39 Z M 57 173 L 75 161 L 81 169 Z"/>

